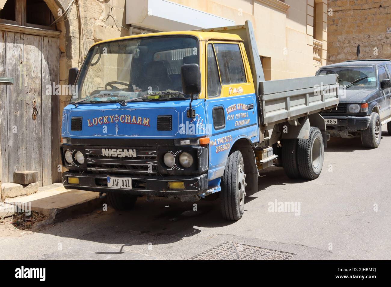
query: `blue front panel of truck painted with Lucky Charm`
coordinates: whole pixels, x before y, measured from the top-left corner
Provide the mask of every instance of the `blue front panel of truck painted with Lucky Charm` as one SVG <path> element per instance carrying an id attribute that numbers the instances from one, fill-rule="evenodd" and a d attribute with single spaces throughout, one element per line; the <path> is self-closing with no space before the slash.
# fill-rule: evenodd
<path id="1" fill-rule="evenodd" d="M 188 138 L 206 134 L 204 100 L 194 100 L 195 119 L 187 118 L 190 100 L 164 102 L 83 103 L 67 105 L 63 111 L 61 136 L 69 138 Z M 172 128 L 158 130 L 158 116 L 171 116 Z M 80 119 L 80 117 L 82 119 Z M 81 120 L 81 130 L 72 127 Z M 166 122 L 167 123 L 167 122 Z M 197 127 L 187 134 L 186 127 Z"/>

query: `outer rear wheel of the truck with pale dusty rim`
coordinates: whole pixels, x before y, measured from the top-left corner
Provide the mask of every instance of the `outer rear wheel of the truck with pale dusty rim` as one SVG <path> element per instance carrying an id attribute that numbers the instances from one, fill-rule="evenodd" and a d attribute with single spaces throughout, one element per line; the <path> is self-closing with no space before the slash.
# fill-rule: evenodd
<path id="1" fill-rule="evenodd" d="M 297 145 L 297 160 L 301 177 L 310 180 L 318 178 L 322 171 L 324 158 L 325 147 L 322 133 L 319 128 L 311 127 L 308 139 L 299 139 Z"/>

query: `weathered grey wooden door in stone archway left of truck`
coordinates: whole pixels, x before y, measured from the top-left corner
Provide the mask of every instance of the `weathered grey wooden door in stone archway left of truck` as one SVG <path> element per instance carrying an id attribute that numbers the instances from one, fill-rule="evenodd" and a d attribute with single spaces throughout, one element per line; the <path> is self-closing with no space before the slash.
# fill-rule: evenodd
<path id="1" fill-rule="evenodd" d="M 40 185 L 59 181 L 58 39 L 0 31 L 2 182 L 14 171 L 39 172 Z"/>

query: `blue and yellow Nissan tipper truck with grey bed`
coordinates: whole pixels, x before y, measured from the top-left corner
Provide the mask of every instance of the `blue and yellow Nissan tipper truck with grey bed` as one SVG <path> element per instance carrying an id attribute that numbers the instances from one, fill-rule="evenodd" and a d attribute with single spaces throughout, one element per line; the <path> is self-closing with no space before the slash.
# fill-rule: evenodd
<path id="1" fill-rule="evenodd" d="M 265 81 L 248 21 L 101 41 L 68 80 L 67 189 L 106 194 L 118 210 L 140 196 L 219 197 L 228 220 L 242 217 L 262 169 L 319 176 L 328 137 L 319 112 L 339 101 L 335 74 Z"/>

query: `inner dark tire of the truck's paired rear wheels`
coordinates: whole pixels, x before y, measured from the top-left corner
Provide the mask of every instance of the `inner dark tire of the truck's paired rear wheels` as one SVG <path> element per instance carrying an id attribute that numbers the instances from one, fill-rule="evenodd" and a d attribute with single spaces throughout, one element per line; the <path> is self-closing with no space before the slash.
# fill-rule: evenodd
<path id="1" fill-rule="evenodd" d="M 297 163 L 298 139 L 284 139 L 282 142 L 281 161 L 285 174 L 289 178 L 301 178 Z"/>

